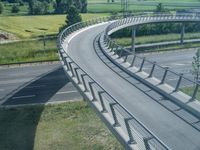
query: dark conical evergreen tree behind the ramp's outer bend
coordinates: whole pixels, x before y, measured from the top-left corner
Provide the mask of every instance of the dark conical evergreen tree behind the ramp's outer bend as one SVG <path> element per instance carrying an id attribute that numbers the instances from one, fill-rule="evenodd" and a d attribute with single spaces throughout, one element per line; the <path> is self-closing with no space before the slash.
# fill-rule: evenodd
<path id="1" fill-rule="evenodd" d="M 72 24 L 75 24 L 77 22 L 81 22 L 82 18 L 75 6 L 70 6 L 67 17 L 66 17 L 66 25 L 70 26 Z"/>

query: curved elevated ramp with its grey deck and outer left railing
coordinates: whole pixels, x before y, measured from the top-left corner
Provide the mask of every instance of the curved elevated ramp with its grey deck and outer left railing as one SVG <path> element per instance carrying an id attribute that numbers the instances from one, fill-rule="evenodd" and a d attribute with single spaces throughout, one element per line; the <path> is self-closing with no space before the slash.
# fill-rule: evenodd
<path id="1" fill-rule="evenodd" d="M 60 59 L 77 89 L 126 149 L 200 149 L 200 120 L 108 59 L 99 35 L 113 21 L 77 23 L 59 36 Z"/>

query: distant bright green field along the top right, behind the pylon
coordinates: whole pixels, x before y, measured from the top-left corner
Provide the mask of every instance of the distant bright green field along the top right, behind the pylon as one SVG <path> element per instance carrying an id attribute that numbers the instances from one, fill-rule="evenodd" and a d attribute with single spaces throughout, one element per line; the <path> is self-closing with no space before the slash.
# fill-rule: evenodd
<path id="1" fill-rule="evenodd" d="M 121 2 L 115 1 L 115 3 L 106 3 L 105 0 L 89 0 L 88 11 L 89 12 L 117 12 L 121 11 Z M 162 3 L 168 10 L 177 10 L 185 8 L 200 7 L 199 0 L 145 0 L 138 1 L 133 0 L 128 2 L 128 11 L 142 12 L 153 11 L 156 9 L 158 3 Z"/>

